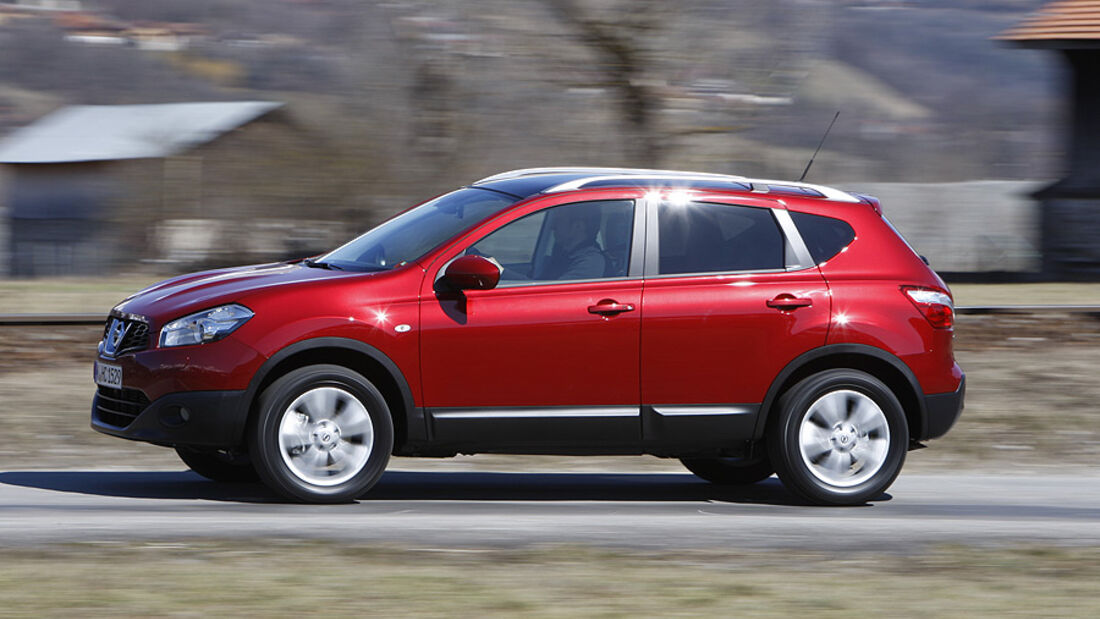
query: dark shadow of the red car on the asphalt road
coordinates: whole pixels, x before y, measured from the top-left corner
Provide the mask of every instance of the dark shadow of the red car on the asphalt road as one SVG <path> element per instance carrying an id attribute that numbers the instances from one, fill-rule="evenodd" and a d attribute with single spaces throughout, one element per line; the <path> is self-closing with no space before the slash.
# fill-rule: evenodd
<path id="1" fill-rule="evenodd" d="M 0 484 L 108 497 L 285 502 L 260 484 L 210 482 L 182 472 L 13 471 Z M 883 495 L 877 500 L 888 500 Z M 772 477 L 751 486 L 717 486 L 675 473 L 487 473 L 388 471 L 364 502 L 402 501 L 717 501 L 805 505 Z"/>

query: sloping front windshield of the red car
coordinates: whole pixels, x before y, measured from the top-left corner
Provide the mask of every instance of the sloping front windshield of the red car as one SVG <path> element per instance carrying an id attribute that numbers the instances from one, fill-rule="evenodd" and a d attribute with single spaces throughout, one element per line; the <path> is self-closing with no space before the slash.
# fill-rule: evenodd
<path id="1" fill-rule="evenodd" d="M 340 270 L 403 266 L 518 200 L 492 189 L 463 187 L 408 210 L 307 264 Z"/>

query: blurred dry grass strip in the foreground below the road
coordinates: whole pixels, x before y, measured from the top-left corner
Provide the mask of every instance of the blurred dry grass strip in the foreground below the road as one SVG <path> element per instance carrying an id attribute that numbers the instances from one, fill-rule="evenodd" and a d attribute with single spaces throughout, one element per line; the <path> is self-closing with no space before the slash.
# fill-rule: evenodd
<path id="1" fill-rule="evenodd" d="M 1096 617 L 1100 549 L 911 555 L 122 543 L 6 551 L 6 617 Z M 103 566 L 110 565 L 105 572 Z"/>

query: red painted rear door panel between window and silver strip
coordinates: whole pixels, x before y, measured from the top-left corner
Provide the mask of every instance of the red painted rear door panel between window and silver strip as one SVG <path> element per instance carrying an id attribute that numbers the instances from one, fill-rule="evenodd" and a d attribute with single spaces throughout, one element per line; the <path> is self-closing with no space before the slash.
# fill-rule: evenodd
<path id="1" fill-rule="evenodd" d="M 795 305 L 773 307 L 784 301 Z M 650 279 L 642 303 L 647 405 L 759 404 L 783 366 L 824 345 L 828 331 L 816 268 Z"/>

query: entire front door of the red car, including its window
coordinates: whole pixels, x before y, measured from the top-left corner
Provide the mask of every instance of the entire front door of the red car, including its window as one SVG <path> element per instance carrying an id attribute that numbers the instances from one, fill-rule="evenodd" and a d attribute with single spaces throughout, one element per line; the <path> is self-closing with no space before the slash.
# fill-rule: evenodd
<path id="1" fill-rule="evenodd" d="M 495 259 L 496 288 L 440 292 L 431 283 L 448 256 L 429 269 L 421 368 L 435 443 L 518 452 L 639 443 L 636 228 L 631 200 L 549 207 L 450 254 Z"/>

